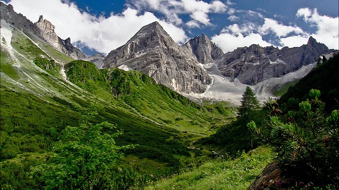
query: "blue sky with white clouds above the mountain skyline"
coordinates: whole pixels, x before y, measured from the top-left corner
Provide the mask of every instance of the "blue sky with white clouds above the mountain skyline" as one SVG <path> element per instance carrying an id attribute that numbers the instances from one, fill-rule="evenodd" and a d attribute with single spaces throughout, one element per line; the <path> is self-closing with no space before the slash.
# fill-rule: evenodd
<path id="1" fill-rule="evenodd" d="M 158 21 L 178 44 L 205 33 L 224 53 L 259 44 L 296 47 L 310 36 L 339 49 L 338 0 L 6 0 L 91 56 L 107 55 Z"/>

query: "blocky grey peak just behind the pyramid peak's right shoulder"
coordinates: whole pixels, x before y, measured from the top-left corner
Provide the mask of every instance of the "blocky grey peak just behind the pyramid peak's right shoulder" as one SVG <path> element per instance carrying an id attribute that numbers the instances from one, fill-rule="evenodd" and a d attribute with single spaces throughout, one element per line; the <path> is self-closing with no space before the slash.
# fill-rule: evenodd
<path id="1" fill-rule="evenodd" d="M 222 50 L 204 33 L 202 33 L 201 37 L 197 35 L 195 38 L 190 39 L 183 46 L 192 52 L 202 64 L 212 63 L 223 55 Z"/>

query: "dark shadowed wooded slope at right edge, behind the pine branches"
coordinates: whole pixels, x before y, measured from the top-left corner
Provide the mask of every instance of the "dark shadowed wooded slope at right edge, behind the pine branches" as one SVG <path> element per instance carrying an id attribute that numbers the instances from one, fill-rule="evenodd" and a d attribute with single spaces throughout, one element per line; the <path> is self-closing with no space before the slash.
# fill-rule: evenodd
<path id="1" fill-rule="evenodd" d="M 322 94 L 320 99 L 326 103 L 325 110 L 330 113 L 339 109 L 339 54 L 313 68 L 311 72 L 301 79 L 296 85 L 291 86 L 281 96 L 278 103 L 282 111 L 299 109 L 299 102 L 305 100 L 311 89 L 319 89 Z"/>

